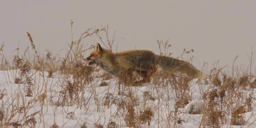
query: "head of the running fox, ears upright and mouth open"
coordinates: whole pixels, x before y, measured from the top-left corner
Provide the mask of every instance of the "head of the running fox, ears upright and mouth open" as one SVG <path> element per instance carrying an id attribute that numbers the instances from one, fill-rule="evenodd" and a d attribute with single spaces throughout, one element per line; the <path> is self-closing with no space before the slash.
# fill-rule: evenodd
<path id="1" fill-rule="evenodd" d="M 90 54 L 89 57 L 86 57 L 84 60 L 89 61 L 88 65 L 97 64 L 99 65 L 98 58 L 100 57 L 100 53 L 102 52 L 102 48 L 100 44 L 96 44 L 94 47 L 94 51 Z"/>

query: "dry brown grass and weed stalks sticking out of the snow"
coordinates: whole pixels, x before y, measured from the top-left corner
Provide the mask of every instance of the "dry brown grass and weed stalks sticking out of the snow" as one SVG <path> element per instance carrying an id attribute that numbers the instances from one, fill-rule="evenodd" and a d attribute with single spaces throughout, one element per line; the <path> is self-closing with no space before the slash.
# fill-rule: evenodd
<path id="1" fill-rule="evenodd" d="M 73 25 L 73 22 L 71 22 Z M 72 28 L 72 27 L 71 27 Z M 102 38 L 100 32 L 106 35 Z M 89 112 L 90 102 L 93 101 L 97 108 L 97 112 L 102 112 L 105 109 L 111 109 L 116 106 L 115 112 L 111 113 L 111 117 L 120 118 L 123 123 L 117 121 L 95 120 L 93 124 L 97 128 L 107 126 L 108 128 L 117 128 L 122 126 L 127 127 L 146 127 L 150 126 L 152 119 L 154 123 L 158 122 L 158 126 L 178 127 L 185 125 L 188 120 L 184 118 L 188 112 L 191 115 L 200 115 L 201 120 L 198 125 L 200 127 L 221 127 L 222 125 L 245 125 L 246 121 L 244 113 L 253 111 L 253 102 L 255 101 L 253 88 L 256 88 L 256 82 L 250 82 L 255 77 L 252 74 L 251 67 L 248 70 L 244 69 L 243 73 L 238 72 L 236 68 L 232 69 L 232 75 L 228 75 L 223 68 L 214 68 L 210 71 L 208 79 L 205 83 L 208 88 L 204 88 L 206 84 L 201 81 L 191 82 L 191 79 L 184 74 L 173 74 L 162 71 L 157 71 L 153 77 L 151 84 L 148 86 L 148 91 L 142 91 L 143 99 L 138 99 L 137 91 L 132 87 L 123 87 L 122 82 L 117 82 L 115 85 L 117 92 L 107 92 L 104 97 L 100 97 L 97 88 L 100 86 L 110 86 L 111 80 L 116 80 L 112 75 L 103 73 L 98 78 L 101 84 L 94 81 L 96 78 L 95 72 L 100 72 L 95 67 L 88 67 L 83 61 L 86 50 L 81 40 L 89 38 L 93 35 L 99 37 L 100 41 L 113 51 L 114 36 L 110 40 L 108 35 L 108 26 L 101 29 L 88 29 L 77 39 L 69 44 L 69 49 L 64 58 L 51 57 L 48 51 L 46 56 L 40 56 L 36 51 L 36 46 L 33 44 L 32 36 L 27 32 L 28 39 L 35 54 L 26 56 L 27 50 L 23 56 L 15 55 L 11 63 L 7 62 L 3 57 L 1 70 L 12 70 L 12 74 L 8 74 L 6 81 L 13 81 L 18 84 L 19 90 L 7 94 L 6 90 L 0 90 L 0 127 L 35 127 L 37 123 L 47 123 L 44 118 L 46 113 L 43 109 L 48 110 L 50 106 L 58 106 L 65 111 L 66 118 L 74 119 L 76 110 L 68 110 L 68 107 L 76 107 L 84 112 Z M 115 33 L 114 33 L 115 35 Z M 160 53 L 166 56 L 171 56 L 168 49 L 171 47 L 168 40 L 164 43 L 163 40 L 157 41 Z M 4 45 L 1 46 L 0 52 L 4 50 Z M 183 54 L 189 54 L 193 50 L 182 52 L 180 58 L 184 59 Z M 254 60 L 254 53 L 248 56 L 250 63 Z M 188 61 L 192 61 L 193 57 L 187 57 Z M 217 67 L 217 66 L 215 66 Z M 233 66 L 234 67 L 234 66 Z M 31 73 L 32 72 L 32 73 Z M 46 73 L 47 72 L 47 73 Z M 34 74 L 40 74 L 40 77 L 35 77 Z M 98 76 L 99 77 L 99 76 Z M 51 83 L 49 80 L 58 78 L 59 83 Z M 133 76 L 138 80 L 138 75 Z M 42 85 L 39 85 L 41 81 Z M 50 84 L 52 88 L 57 87 L 59 92 L 53 92 L 47 88 Z M 192 86 L 191 86 L 192 85 Z M 193 100 L 193 85 L 199 85 L 200 98 L 202 101 L 202 109 L 196 109 L 196 104 L 190 106 L 190 111 L 182 111 L 186 105 Z M 24 91 L 21 89 L 24 86 Z M 151 88 L 154 86 L 154 88 Z M 22 87 L 23 88 L 23 87 Z M 248 91 L 249 90 L 249 91 Z M 89 92 L 89 96 L 85 96 L 85 92 Z M 167 96 L 167 97 L 164 97 Z M 7 103 L 2 99 L 8 97 L 12 99 L 12 103 Z M 24 97 L 31 97 L 28 101 Z M 166 102 L 175 102 L 174 106 L 165 105 L 161 100 Z M 141 101 L 141 103 L 139 102 Z M 41 111 L 29 113 L 35 102 L 40 102 Z M 151 107 L 148 107 L 150 103 Z M 8 108 L 4 108 L 3 104 L 9 104 Z M 103 109 L 104 108 L 104 109 Z M 160 110 L 166 111 L 163 115 Z M 56 112 L 57 114 L 57 112 Z M 35 115 L 39 118 L 35 118 Z M 19 116 L 20 118 L 12 119 Z M 82 117 L 80 117 L 82 118 Z M 253 122 L 252 122 L 253 123 Z M 163 124 L 160 126 L 160 124 Z M 65 125 L 65 124 L 64 124 Z M 81 123 L 81 128 L 86 128 L 87 123 Z M 51 128 L 62 127 L 54 121 Z"/>

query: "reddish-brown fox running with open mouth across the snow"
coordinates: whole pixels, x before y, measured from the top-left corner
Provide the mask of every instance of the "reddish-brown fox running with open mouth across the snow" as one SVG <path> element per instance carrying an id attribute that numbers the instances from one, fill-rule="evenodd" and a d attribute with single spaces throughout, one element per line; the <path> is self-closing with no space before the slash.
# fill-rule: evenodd
<path id="1" fill-rule="evenodd" d="M 168 72 L 185 73 L 188 77 L 205 79 L 204 74 L 188 62 L 156 55 L 148 50 L 130 50 L 113 53 L 96 43 L 94 51 L 84 58 L 88 65 L 96 64 L 106 72 L 116 76 L 123 81 L 124 85 L 140 86 L 150 82 L 150 77 L 157 71 L 159 66 Z M 133 72 L 142 78 L 133 82 Z"/>

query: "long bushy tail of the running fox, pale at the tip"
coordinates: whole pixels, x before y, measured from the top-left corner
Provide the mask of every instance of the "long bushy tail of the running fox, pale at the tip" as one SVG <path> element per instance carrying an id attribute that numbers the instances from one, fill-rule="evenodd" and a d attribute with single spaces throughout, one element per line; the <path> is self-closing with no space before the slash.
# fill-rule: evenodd
<path id="1" fill-rule="evenodd" d="M 204 74 L 197 70 L 192 64 L 179 59 L 156 55 L 156 63 L 164 71 L 181 72 L 193 78 L 205 79 Z"/>

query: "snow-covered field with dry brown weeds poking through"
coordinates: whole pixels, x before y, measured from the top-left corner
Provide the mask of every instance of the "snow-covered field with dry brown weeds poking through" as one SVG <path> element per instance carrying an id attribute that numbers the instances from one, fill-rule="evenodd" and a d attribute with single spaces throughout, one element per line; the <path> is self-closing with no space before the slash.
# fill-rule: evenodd
<path id="1" fill-rule="evenodd" d="M 221 93 L 211 82 L 193 79 L 183 86 L 176 77 L 118 88 L 115 77 L 102 80 L 103 71 L 94 71 L 87 84 L 36 70 L 15 81 L 20 74 L 0 71 L 1 127 L 256 127 L 256 90 L 250 87 Z"/>

